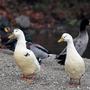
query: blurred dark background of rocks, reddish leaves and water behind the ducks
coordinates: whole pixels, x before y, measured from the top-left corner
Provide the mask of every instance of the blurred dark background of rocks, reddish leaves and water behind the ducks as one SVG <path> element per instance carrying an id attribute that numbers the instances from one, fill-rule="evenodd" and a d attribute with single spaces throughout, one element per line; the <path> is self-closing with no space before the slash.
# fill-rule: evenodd
<path id="1" fill-rule="evenodd" d="M 73 38 L 78 35 L 81 13 L 90 19 L 90 0 L 0 0 L 0 26 L 3 16 L 8 20 L 4 23 L 24 31 L 27 41 L 53 54 L 66 46 L 57 43 L 62 33 L 68 32 Z M 90 27 L 87 29 L 90 36 Z M 83 57 L 90 58 L 90 40 L 87 48 Z"/>

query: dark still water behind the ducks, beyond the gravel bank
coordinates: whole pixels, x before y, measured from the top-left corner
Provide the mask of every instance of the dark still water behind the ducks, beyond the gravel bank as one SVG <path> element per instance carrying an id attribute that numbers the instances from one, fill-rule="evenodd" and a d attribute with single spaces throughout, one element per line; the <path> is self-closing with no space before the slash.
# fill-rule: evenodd
<path id="1" fill-rule="evenodd" d="M 71 29 L 67 29 L 67 31 L 62 29 L 59 31 L 57 30 L 36 31 L 36 34 L 32 36 L 32 41 L 44 46 L 49 50 L 50 53 L 59 54 L 66 46 L 66 43 L 61 43 L 61 44 L 57 43 L 57 40 L 61 37 L 61 35 L 64 32 L 70 33 L 73 36 L 73 38 L 75 38 L 78 35 L 79 28 L 74 28 L 74 29 L 71 28 Z M 90 28 L 88 29 L 88 33 L 90 36 Z M 83 57 L 90 58 L 89 53 L 90 53 L 90 40 L 87 49 L 83 54 Z"/>

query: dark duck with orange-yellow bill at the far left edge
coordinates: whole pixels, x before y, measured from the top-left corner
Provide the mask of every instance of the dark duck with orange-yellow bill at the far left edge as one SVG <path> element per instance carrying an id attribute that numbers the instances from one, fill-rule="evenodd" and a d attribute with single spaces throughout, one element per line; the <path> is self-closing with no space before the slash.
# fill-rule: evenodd
<path id="1" fill-rule="evenodd" d="M 0 39 L 1 39 L 1 47 L 0 48 L 6 48 L 6 42 L 8 39 L 8 33 L 11 32 L 12 25 L 8 18 L 0 15 Z"/>

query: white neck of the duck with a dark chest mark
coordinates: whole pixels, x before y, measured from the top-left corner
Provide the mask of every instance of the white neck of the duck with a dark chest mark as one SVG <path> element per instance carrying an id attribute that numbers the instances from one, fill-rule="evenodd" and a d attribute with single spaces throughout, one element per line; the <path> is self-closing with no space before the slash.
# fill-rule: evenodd
<path id="1" fill-rule="evenodd" d="M 25 36 L 24 36 L 24 35 L 21 35 L 21 36 L 19 36 L 19 37 L 17 38 L 16 49 L 17 49 L 17 48 L 23 49 L 22 47 L 23 47 L 23 48 L 26 48 L 26 40 L 25 40 Z"/>

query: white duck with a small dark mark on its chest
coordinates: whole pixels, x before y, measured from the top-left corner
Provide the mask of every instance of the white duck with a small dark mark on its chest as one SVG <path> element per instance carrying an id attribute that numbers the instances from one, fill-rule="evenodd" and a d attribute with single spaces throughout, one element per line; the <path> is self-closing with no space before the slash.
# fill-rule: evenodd
<path id="1" fill-rule="evenodd" d="M 23 31 L 16 28 L 8 38 L 17 39 L 14 50 L 16 64 L 22 71 L 22 78 L 32 81 L 33 76 L 40 72 L 40 65 L 33 51 L 27 49 Z"/>

